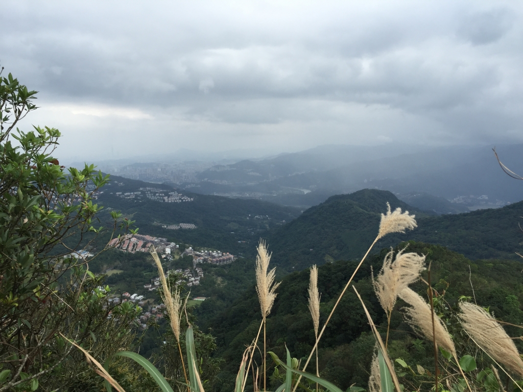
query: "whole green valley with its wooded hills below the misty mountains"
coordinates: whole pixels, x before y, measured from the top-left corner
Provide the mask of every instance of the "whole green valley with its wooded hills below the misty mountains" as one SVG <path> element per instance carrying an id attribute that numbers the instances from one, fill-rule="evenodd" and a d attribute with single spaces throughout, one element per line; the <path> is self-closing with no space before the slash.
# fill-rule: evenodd
<path id="1" fill-rule="evenodd" d="M 254 290 L 254 257 L 259 238 L 267 240 L 272 252 L 271 265 L 277 267 L 277 278 L 282 281 L 268 318 L 270 350 L 281 358 L 285 343 L 294 356 L 303 358 L 313 344 L 306 308 L 309 267 L 312 264 L 320 266 L 321 312 L 325 317 L 340 288 L 354 271 L 357 260 L 376 236 L 387 202 L 392 209 L 400 207 L 415 214 L 418 227 L 378 241 L 369 261 L 356 275 L 356 287 L 377 324 L 383 324 L 384 314 L 373 294 L 370 268 L 380 269 L 391 246 L 397 251 L 407 245 L 408 251 L 427 255 L 427 262 L 432 263 L 435 274 L 433 281 L 445 286 L 449 304 L 455 303 L 459 295 L 470 295 L 471 287 L 474 287 L 476 298 L 491 305 L 499 317 L 523 321 L 521 311 L 511 313 L 506 299 L 514 296 L 517 301 L 523 301 L 523 291 L 519 288 L 523 287 L 519 273 L 521 262 L 516 255 L 521 252 L 518 216 L 523 215 L 523 202 L 497 209 L 435 215 L 408 205 L 392 192 L 364 189 L 329 197 L 301 212 L 260 200 L 181 192 L 166 185 L 156 187 L 165 189 L 166 194 L 183 193 L 190 201 L 132 200 L 117 197 L 107 190 L 118 189 L 124 194 L 152 185 L 115 176 L 112 181 L 112 185 L 99 194 L 98 201 L 107 209 L 120 210 L 124 216 L 135 220 L 135 225 L 140 227 L 140 236 L 149 236 L 151 243 L 154 244 L 156 237 L 150 235 L 154 234 L 171 244 L 167 246 L 174 250 L 169 254 L 165 246 L 159 247 L 166 270 L 191 276 L 198 274 L 198 284 L 188 285 L 187 282 L 194 282 L 194 278 L 186 278 L 184 286 L 187 292 L 190 290 L 190 298 L 204 298 L 190 301 L 189 306 L 199 328 L 216 339 L 214 358 L 224 360 L 217 390 L 232 387 L 244 344 L 256 335 L 260 315 Z M 195 227 L 183 229 L 181 222 L 192 223 Z M 179 227 L 173 230 L 167 228 L 167 224 Z M 103 253 L 94 262 L 93 270 L 117 270 L 106 278 L 106 282 L 120 292 L 132 291 L 144 295 L 144 299 L 150 298 L 143 304 L 143 314 L 151 317 L 153 309 L 161 305 L 161 299 L 149 292 L 150 288 L 142 287 L 151 285 L 151 279 L 157 274 L 149 255 L 132 249 L 127 252 L 111 249 Z M 236 255 L 234 261 L 226 264 L 204 262 L 207 261 L 205 255 L 216 249 Z M 197 263 L 199 270 L 194 269 Z M 472 286 L 464 279 L 469 274 L 469 266 Z M 422 289 L 421 283 L 416 287 Z M 354 308 L 354 301 L 354 294 L 347 293 L 320 349 L 322 376 L 344 387 L 354 383 L 366 385 L 368 376 L 361 371 L 368 367 L 373 346 L 362 310 Z M 348 314 L 350 317 L 344 316 Z M 152 355 L 158 350 L 160 336 L 146 327 L 147 317 L 141 321 L 146 328 L 142 350 L 146 355 Z M 154 317 L 155 322 L 162 325 L 163 321 L 158 317 Z M 424 362 L 429 346 L 419 345 L 421 341 L 415 340 L 401 319 L 393 319 L 393 325 L 391 355 L 429 366 Z M 340 358 L 344 358 L 341 367 Z"/>

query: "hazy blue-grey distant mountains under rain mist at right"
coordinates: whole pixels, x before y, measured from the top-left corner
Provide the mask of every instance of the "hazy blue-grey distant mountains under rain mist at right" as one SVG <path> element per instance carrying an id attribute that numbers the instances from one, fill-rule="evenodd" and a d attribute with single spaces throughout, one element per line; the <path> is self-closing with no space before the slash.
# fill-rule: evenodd
<path id="1" fill-rule="evenodd" d="M 500 146 L 509 167 L 523 167 L 523 145 Z M 329 196 L 373 188 L 437 214 L 499 207 L 523 199 L 491 147 L 321 146 L 270 159 L 215 165 L 182 186 L 193 192 L 258 198 L 303 208 Z M 452 201 L 450 203 L 449 201 Z"/>

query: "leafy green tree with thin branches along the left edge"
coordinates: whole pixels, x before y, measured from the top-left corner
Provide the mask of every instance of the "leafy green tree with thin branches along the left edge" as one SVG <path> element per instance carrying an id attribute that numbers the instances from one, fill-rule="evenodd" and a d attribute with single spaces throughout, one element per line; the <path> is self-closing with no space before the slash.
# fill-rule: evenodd
<path id="1" fill-rule="evenodd" d="M 100 233 L 94 199 L 108 176 L 65 169 L 52 153 L 60 132 L 17 128 L 36 91 L 0 71 L 0 391 L 63 388 L 85 373 L 67 339 L 110 355 L 129 345 L 137 309 L 111 308 L 108 287 L 73 252 Z M 112 212 L 112 235 L 134 233 Z M 112 238 L 111 235 L 111 238 Z M 87 237 L 86 237 L 87 236 Z M 81 248 L 80 245 L 83 245 Z M 73 253 L 74 254 L 74 253 Z M 121 335 L 119 335 L 121 334 Z M 94 374 L 94 373 L 93 373 Z M 54 386 L 54 388 L 53 388 Z M 85 390 L 87 390 L 86 388 Z"/>

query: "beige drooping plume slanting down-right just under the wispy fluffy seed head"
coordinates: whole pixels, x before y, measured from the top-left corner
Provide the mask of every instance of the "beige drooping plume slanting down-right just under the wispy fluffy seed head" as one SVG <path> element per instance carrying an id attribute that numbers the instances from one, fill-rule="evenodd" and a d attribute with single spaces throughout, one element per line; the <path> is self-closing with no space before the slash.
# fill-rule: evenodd
<path id="1" fill-rule="evenodd" d="M 445 327 L 443 321 L 430 310 L 430 306 L 424 299 L 408 287 L 399 293 L 399 297 L 411 305 L 411 307 L 404 308 L 408 324 L 410 324 L 419 335 L 425 336 L 428 340 L 436 340 L 436 344 L 439 347 L 456 356 L 456 348 L 454 348 L 454 343 L 447 331 L 447 327 Z M 433 315 L 436 337 L 434 337 L 433 334 L 433 324 L 431 321 Z"/>

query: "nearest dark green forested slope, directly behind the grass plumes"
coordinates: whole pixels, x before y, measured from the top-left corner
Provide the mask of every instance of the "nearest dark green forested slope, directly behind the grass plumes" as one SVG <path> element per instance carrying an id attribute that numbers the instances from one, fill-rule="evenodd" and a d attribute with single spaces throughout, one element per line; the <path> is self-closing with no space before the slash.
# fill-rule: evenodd
<path id="1" fill-rule="evenodd" d="M 405 244 L 398 248 L 404 247 Z M 386 249 L 364 263 L 356 275 L 356 287 L 362 295 L 376 324 L 386 328 L 386 317 L 374 295 L 370 273 L 381 268 Z M 471 282 L 478 304 L 490 306 L 496 317 L 519 324 L 523 321 L 520 303 L 523 301 L 523 275 L 521 263 L 512 260 L 471 261 L 445 247 L 423 243 L 409 243 L 408 251 L 427 255 L 427 265 L 432 262 L 432 281 L 437 290 L 446 290 L 445 299 L 449 306 L 456 303 L 459 295 L 473 296 Z M 320 325 L 332 309 L 337 295 L 357 265 L 356 261 L 326 263 L 319 268 L 319 291 L 322 294 Z M 427 272 L 423 274 L 427 279 Z M 447 286 L 448 283 L 448 286 Z M 285 344 L 292 355 L 306 357 L 314 343 L 312 321 L 307 308 L 309 270 L 293 272 L 282 279 L 274 308 L 267 320 L 267 350 L 276 352 L 280 358 L 285 353 Z M 426 286 L 419 282 L 412 285 L 418 293 L 426 294 Z M 198 309 L 201 314 L 212 303 L 203 303 Z M 396 305 L 401 308 L 404 304 Z M 234 304 L 205 322 L 202 327 L 212 328 L 217 337 L 216 356 L 224 359 L 219 377 L 220 390 L 232 390 L 232 383 L 240 363 L 245 344 L 251 342 L 261 320 L 259 304 L 254 286 L 238 298 Z M 427 369 L 433 366 L 431 343 L 418 339 L 399 313 L 394 313 L 389 341 L 391 358 L 403 358 L 418 363 Z M 514 331 L 511 331 L 514 332 Z M 517 331 L 515 332 L 517 333 Z M 520 335 L 520 334 L 519 334 Z M 517 336 L 519 336 L 517 335 Z M 356 383 L 366 387 L 374 338 L 370 335 L 367 319 L 352 290 L 349 290 L 338 306 L 331 323 L 320 343 L 320 374 L 342 389 Z M 259 365 L 259 364 L 258 364 Z M 315 365 L 311 363 L 311 368 Z M 432 371 L 432 370 L 431 370 Z M 272 370 L 268 372 L 271 374 Z"/>

